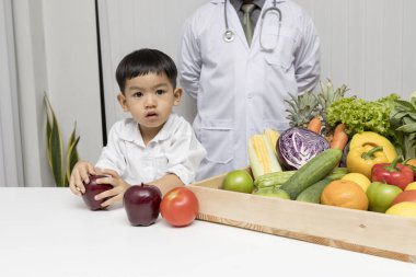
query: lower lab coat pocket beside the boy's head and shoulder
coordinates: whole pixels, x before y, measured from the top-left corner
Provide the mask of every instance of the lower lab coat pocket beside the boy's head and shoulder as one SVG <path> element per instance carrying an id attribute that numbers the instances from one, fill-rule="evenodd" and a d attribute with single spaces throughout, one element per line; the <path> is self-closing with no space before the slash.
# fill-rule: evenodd
<path id="1" fill-rule="evenodd" d="M 206 159 L 213 163 L 229 163 L 233 159 L 233 120 L 208 119 L 201 123 L 200 142 L 207 150 Z"/>

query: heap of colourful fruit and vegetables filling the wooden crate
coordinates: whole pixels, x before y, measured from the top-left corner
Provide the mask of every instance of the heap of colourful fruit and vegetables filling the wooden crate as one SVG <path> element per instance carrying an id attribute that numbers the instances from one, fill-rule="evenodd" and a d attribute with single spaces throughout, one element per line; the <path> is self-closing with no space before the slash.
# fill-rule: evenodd
<path id="1" fill-rule="evenodd" d="M 232 171 L 222 188 L 416 218 L 416 92 L 368 102 L 346 91 L 291 96 L 291 128 L 253 136 L 252 175 Z"/>

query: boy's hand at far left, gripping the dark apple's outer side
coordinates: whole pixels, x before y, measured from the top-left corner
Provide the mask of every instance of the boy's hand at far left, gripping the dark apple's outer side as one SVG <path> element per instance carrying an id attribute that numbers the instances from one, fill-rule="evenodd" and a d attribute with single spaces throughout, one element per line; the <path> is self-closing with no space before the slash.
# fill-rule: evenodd
<path id="1" fill-rule="evenodd" d="M 74 195 L 81 196 L 81 194 L 85 193 L 85 184 L 90 183 L 90 175 L 96 175 L 97 172 L 89 162 L 79 161 L 72 169 L 71 177 L 69 180 L 69 188 Z"/>

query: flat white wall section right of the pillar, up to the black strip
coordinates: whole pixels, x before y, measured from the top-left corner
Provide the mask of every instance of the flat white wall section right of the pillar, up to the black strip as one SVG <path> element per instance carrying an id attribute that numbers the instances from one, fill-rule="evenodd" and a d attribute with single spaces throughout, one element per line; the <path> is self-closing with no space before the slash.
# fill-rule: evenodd
<path id="1" fill-rule="evenodd" d="M 48 94 L 69 138 L 77 122 L 81 159 L 103 147 L 94 0 L 44 0 Z"/>

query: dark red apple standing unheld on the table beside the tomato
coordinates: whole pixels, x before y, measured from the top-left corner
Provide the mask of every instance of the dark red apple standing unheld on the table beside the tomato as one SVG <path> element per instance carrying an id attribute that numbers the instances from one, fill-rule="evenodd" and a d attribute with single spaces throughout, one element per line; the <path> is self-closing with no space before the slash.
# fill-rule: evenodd
<path id="1" fill-rule="evenodd" d="M 159 217 L 162 193 L 153 185 L 134 185 L 123 197 L 124 208 L 132 226 L 150 226 Z"/>

